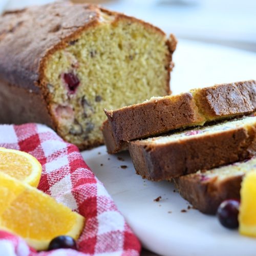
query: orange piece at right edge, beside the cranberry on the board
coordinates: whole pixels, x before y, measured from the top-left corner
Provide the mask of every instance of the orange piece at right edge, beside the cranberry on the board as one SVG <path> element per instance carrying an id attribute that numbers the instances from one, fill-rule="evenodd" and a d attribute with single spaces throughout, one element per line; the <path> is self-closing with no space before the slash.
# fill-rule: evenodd
<path id="1" fill-rule="evenodd" d="M 256 170 L 256 168 L 255 168 Z M 239 210 L 239 232 L 256 237 L 256 172 L 248 173 L 242 182 Z"/>

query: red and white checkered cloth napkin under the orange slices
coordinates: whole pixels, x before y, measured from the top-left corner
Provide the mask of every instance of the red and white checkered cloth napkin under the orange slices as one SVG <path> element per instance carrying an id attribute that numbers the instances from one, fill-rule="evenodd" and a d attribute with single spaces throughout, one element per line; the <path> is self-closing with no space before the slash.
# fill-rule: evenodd
<path id="1" fill-rule="evenodd" d="M 80 252 L 58 249 L 38 255 L 139 255 L 138 239 L 75 145 L 63 141 L 45 125 L 23 124 L 0 125 L 0 146 L 36 157 L 42 164 L 38 188 L 86 217 L 78 240 Z M 0 252 L 37 254 L 22 239 L 4 231 L 0 232 Z"/>

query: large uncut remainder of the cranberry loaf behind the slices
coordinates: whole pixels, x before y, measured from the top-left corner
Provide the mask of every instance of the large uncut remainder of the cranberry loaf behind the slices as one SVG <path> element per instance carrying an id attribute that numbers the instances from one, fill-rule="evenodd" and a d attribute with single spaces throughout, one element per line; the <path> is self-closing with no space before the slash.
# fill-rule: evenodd
<path id="1" fill-rule="evenodd" d="M 63 1 L 0 17 L 0 122 L 39 122 L 80 149 L 103 143 L 103 109 L 169 94 L 176 47 L 158 28 Z"/>

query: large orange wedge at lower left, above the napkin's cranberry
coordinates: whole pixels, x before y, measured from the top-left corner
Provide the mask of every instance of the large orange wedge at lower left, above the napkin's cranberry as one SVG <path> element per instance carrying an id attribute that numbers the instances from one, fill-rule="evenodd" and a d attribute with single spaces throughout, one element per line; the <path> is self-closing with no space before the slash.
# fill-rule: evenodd
<path id="1" fill-rule="evenodd" d="M 23 237 L 36 250 L 58 236 L 79 237 L 84 218 L 42 191 L 0 172 L 0 229 Z"/>

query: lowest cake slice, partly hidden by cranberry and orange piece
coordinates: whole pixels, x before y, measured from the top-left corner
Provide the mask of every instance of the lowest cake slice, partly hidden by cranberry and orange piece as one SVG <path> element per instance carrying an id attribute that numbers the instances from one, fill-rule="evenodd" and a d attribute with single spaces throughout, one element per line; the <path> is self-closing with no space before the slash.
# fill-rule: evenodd
<path id="1" fill-rule="evenodd" d="M 225 165 L 219 168 L 198 171 L 175 178 L 181 194 L 195 208 L 204 214 L 216 214 L 222 201 L 240 199 L 243 176 L 256 170 L 256 158 Z"/>

